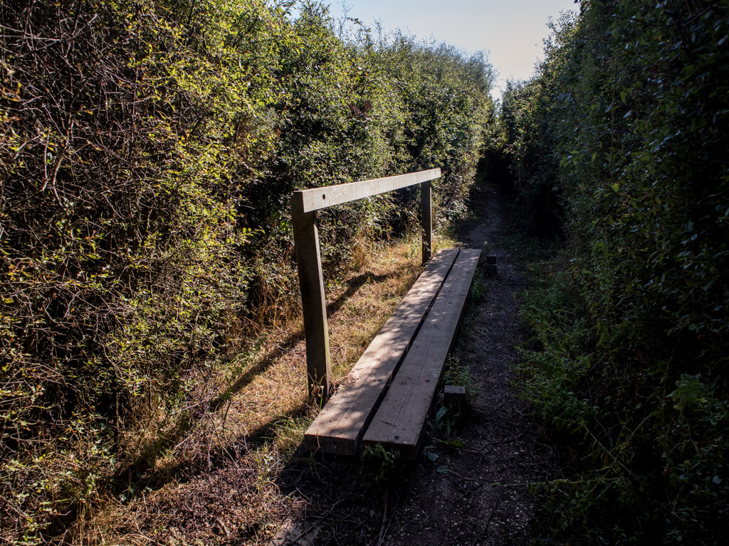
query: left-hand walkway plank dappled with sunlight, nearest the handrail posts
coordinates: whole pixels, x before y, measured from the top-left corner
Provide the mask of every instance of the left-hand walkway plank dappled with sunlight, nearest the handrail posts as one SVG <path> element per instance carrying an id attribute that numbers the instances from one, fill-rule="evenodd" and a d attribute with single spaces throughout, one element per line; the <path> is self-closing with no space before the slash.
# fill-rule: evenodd
<path id="1" fill-rule="evenodd" d="M 355 455 L 385 387 L 453 265 L 458 250 L 441 250 L 402 299 L 304 436 L 304 447 Z"/>

